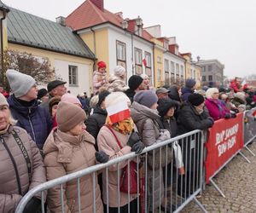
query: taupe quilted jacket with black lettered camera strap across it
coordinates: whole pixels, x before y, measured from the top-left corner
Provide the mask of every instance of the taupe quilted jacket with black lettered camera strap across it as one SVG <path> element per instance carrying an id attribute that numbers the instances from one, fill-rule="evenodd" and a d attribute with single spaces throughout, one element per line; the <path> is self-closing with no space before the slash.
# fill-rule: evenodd
<path id="1" fill-rule="evenodd" d="M 20 147 L 15 141 L 12 131 L 20 137 L 32 164 L 31 182 L 27 171 L 27 164 Z M 15 212 L 20 199 L 33 187 L 46 181 L 42 156 L 26 130 L 18 126 L 9 126 L 6 133 L 0 135 L 0 212 Z M 10 155 L 14 158 L 12 162 Z M 15 168 L 18 174 L 15 173 Z M 18 175 L 18 176 L 17 176 Z M 20 180 L 20 186 L 17 181 Z M 21 194 L 19 194 L 19 188 Z M 36 196 L 41 199 L 41 193 Z M 44 193 L 44 198 L 46 193 Z"/>

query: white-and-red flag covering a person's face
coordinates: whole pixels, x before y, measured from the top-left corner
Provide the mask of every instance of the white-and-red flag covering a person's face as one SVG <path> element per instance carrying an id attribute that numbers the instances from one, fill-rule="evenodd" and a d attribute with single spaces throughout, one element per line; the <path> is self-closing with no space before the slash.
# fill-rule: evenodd
<path id="1" fill-rule="evenodd" d="M 108 107 L 107 112 L 112 124 L 131 117 L 130 109 L 126 102 L 120 102 L 114 106 Z"/>

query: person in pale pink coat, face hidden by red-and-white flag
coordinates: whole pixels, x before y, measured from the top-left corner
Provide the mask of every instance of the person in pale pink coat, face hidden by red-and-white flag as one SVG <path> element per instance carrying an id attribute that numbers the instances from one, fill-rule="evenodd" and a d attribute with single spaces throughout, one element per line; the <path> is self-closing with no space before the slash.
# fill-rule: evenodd
<path id="1" fill-rule="evenodd" d="M 107 153 L 110 159 L 131 152 L 142 153 L 145 146 L 134 130 L 135 124 L 129 109 L 131 105 L 130 99 L 122 92 L 113 92 L 106 97 L 105 104 L 108 117 L 106 124 L 102 126 L 97 136 L 99 151 Z M 132 162 L 131 160 L 130 167 Z M 107 212 L 107 202 L 109 206 L 108 212 L 110 213 L 117 212 L 118 207 L 120 207 L 120 212 L 128 212 L 128 195 L 118 188 L 120 177 L 117 178 L 118 174 L 122 174 L 122 170 L 127 163 L 127 161 L 122 161 L 119 163 L 119 167 L 117 164 L 113 164 L 108 168 L 108 183 L 106 181 L 102 183 L 105 212 Z M 106 175 L 106 170 L 104 170 L 102 180 L 107 180 Z M 121 182 L 119 182 L 119 185 L 121 185 Z M 118 191 L 120 191 L 119 194 Z M 137 212 L 137 193 L 130 193 L 130 212 Z"/>

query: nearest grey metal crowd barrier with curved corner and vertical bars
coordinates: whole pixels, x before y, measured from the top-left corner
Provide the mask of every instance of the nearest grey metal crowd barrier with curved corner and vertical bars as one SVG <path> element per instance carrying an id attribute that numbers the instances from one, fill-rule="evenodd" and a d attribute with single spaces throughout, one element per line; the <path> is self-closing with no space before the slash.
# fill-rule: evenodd
<path id="1" fill-rule="evenodd" d="M 42 194 L 42 200 L 44 200 L 44 190 L 49 188 L 60 186 L 61 194 L 61 212 L 67 212 L 64 206 L 65 190 L 63 190 L 64 184 L 68 181 L 76 181 L 77 185 L 77 198 L 76 199 L 76 210 L 81 212 L 81 204 L 86 202 L 86 200 L 81 200 L 80 198 L 80 179 L 83 176 L 93 176 L 93 212 L 96 212 L 96 190 L 95 186 L 96 176 L 99 171 L 102 171 L 106 177 L 102 181 L 106 181 L 107 188 L 107 204 L 109 206 L 109 198 L 116 199 L 118 203 L 118 210 L 121 211 L 120 203 L 120 176 L 121 169 L 120 163 L 126 161 L 130 165 L 131 160 L 137 161 L 137 182 L 143 183 L 137 186 L 137 212 L 148 212 L 149 210 L 153 212 L 178 212 L 184 208 L 186 204 L 189 204 L 191 200 L 194 200 L 198 204 L 202 211 L 207 212 L 204 206 L 196 199 L 196 195 L 201 193 L 202 190 L 202 169 L 203 169 L 203 144 L 204 137 L 203 132 L 200 130 L 194 130 L 184 135 L 179 135 L 168 141 L 163 141 L 154 144 L 150 147 L 146 147 L 143 153 L 137 155 L 135 153 L 129 153 L 119 158 L 114 158 L 109 160 L 106 164 L 96 164 L 85 170 L 79 170 L 67 176 L 61 176 L 52 181 L 47 181 L 38 187 L 32 188 L 26 195 L 21 199 L 20 204 L 16 209 L 16 213 L 23 212 L 27 202 L 32 199 L 32 197 L 37 194 Z M 168 148 L 167 148 L 168 147 Z M 173 159 L 170 164 L 165 162 L 165 166 L 160 169 L 154 168 L 154 163 L 156 160 L 160 161 L 162 154 L 168 153 L 168 150 L 172 150 Z M 159 154 L 157 152 L 160 152 Z M 166 153 L 164 153 L 166 152 Z M 159 159 L 155 158 L 159 156 Z M 148 160 L 153 158 L 153 168 L 149 169 Z M 113 170 L 109 170 L 111 166 L 115 165 L 117 168 L 117 180 L 118 180 L 118 190 L 116 194 L 109 194 L 108 190 L 108 175 Z M 163 165 L 163 164 L 162 164 Z M 129 166 L 128 166 L 129 167 Z M 129 169 L 129 168 L 128 168 Z M 143 170 L 143 172 L 141 172 Z M 155 181 L 155 177 L 159 176 L 157 179 L 159 182 Z M 143 180 L 143 181 L 142 181 Z M 153 181 L 152 181 L 153 180 Z M 164 186 L 164 187 L 163 187 Z M 128 188 L 130 188 L 130 181 L 128 180 Z M 156 193 L 157 192 L 157 193 Z M 151 193 L 151 194 L 150 194 Z M 158 194 L 159 193 L 159 194 Z M 116 197 L 115 197 L 116 196 Z M 127 204 L 128 212 L 130 212 L 130 202 L 131 194 L 127 193 Z M 46 212 L 44 209 L 44 203 L 41 204 L 42 212 Z"/>

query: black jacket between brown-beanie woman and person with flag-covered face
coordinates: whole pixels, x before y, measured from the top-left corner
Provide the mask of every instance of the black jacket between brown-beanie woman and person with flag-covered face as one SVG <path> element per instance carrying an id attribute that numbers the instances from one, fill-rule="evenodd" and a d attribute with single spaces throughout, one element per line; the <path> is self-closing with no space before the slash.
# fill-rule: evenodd
<path id="1" fill-rule="evenodd" d="M 86 130 L 92 135 L 95 139 L 102 126 L 106 123 L 107 111 L 102 109 L 100 106 L 96 106 L 93 111 L 93 114 L 86 119 Z"/>

